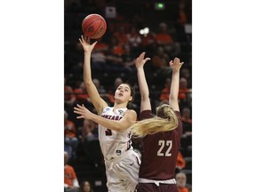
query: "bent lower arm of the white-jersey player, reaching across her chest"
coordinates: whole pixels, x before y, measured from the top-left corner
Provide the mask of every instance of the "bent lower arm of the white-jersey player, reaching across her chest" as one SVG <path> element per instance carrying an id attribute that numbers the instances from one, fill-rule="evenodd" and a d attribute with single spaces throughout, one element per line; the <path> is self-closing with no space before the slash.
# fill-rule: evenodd
<path id="1" fill-rule="evenodd" d="M 74 112 L 80 116 L 76 118 L 84 118 L 84 119 L 91 119 L 97 124 L 101 124 L 102 126 L 107 127 L 113 131 L 123 131 L 132 126 L 136 122 L 137 114 L 134 110 L 127 110 L 124 113 L 124 117 L 119 120 L 110 120 L 102 116 L 97 116 L 93 114 L 90 110 L 81 105 L 76 105 Z"/>

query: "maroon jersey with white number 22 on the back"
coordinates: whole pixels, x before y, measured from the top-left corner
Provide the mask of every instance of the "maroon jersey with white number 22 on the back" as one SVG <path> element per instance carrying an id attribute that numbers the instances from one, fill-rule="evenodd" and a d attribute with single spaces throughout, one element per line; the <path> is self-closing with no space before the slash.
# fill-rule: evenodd
<path id="1" fill-rule="evenodd" d="M 180 148 L 182 123 L 180 112 L 178 127 L 170 132 L 157 132 L 143 138 L 139 177 L 148 180 L 170 180 L 174 178 L 176 160 Z M 140 113 L 140 120 L 151 118 L 151 110 Z"/>

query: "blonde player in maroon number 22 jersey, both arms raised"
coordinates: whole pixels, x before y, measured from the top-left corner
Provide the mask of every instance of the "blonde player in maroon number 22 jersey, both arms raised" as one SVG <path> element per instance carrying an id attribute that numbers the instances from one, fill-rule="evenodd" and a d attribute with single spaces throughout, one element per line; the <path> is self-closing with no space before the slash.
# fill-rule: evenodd
<path id="1" fill-rule="evenodd" d="M 183 62 L 175 58 L 170 61 L 172 84 L 169 103 L 156 108 L 152 115 L 149 100 L 148 84 L 144 74 L 142 52 L 136 59 L 136 68 L 140 86 L 140 122 L 133 124 L 133 133 L 142 137 L 143 151 L 141 156 L 138 192 L 178 192 L 175 180 L 175 164 L 180 148 L 182 124 L 178 103 L 180 67 Z"/>

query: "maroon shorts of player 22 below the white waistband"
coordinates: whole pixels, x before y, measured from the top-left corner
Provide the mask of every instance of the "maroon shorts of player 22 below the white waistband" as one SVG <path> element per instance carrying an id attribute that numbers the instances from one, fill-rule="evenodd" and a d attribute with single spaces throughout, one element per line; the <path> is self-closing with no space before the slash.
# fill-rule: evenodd
<path id="1" fill-rule="evenodd" d="M 139 183 L 137 192 L 178 192 L 176 184 L 160 184 L 158 187 L 154 183 Z"/>

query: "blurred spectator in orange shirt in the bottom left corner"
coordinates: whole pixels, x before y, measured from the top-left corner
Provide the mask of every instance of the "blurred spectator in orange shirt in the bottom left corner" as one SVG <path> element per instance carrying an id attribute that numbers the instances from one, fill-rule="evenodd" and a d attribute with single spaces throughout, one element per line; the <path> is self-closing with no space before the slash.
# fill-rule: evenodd
<path id="1" fill-rule="evenodd" d="M 79 184 L 73 166 L 68 164 L 68 153 L 64 151 L 64 191 L 78 192 Z"/>

